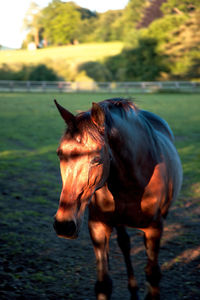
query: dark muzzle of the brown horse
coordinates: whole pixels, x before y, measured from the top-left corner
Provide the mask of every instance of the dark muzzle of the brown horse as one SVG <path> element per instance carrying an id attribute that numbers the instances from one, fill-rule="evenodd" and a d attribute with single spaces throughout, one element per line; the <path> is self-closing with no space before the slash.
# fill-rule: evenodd
<path id="1" fill-rule="evenodd" d="M 59 237 L 67 239 L 76 239 L 78 237 L 78 228 L 74 221 L 54 220 L 53 227 Z"/>

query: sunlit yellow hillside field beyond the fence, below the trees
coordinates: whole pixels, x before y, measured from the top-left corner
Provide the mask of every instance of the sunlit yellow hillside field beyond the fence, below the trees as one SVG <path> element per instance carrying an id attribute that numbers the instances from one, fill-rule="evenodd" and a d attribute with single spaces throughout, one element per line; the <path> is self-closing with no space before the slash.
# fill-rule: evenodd
<path id="1" fill-rule="evenodd" d="M 52 68 L 58 76 L 65 80 L 72 80 L 77 76 L 78 66 L 88 61 L 102 62 L 106 57 L 121 52 L 123 43 L 90 43 L 76 46 L 52 47 L 28 50 L 0 51 L 0 68 L 3 64 L 12 70 L 19 70 L 23 65 L 29 66 L 45 64 Z M 79 74 L 79 80 L 87 80 L 85 74 Z"/>

